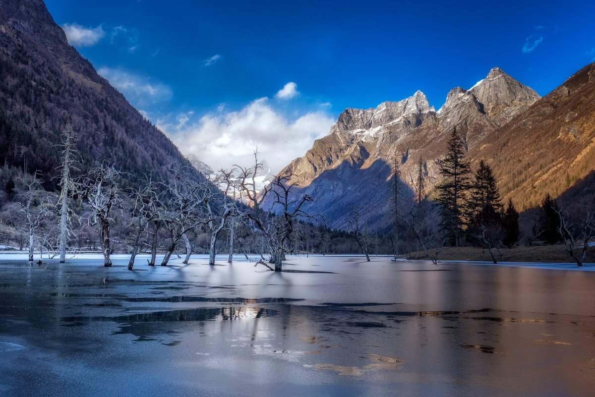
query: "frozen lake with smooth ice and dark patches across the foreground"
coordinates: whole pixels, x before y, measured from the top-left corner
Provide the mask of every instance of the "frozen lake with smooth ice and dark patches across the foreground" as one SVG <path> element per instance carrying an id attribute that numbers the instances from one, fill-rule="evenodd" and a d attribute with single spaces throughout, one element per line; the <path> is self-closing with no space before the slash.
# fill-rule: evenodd
<path id="1" fill-rule="evenodd" d="M 2 396 L 589 396 L 595 272 L 0 256 Z M 309 273 L 318 272 L 318 273 Z"/>

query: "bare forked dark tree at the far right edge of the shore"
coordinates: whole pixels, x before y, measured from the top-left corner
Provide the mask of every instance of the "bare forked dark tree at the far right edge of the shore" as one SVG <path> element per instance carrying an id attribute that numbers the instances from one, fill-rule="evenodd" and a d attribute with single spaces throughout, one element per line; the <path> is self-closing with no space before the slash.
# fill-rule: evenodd
<path id="1" fill-rule="evenodd" d="M 568 212 L 562 208 L 555 209 L 555 211 L 560 216 L 558 232 L 564 240 L 566 252 L 574 259 L 577 266 L 583 266 L 583 262 L 587 258 L 589 243 L 595 237 L 595 212 L 587 209 L 580 222 L 570 223 Z M 578 245 L 580 241 L 583 241 L 582 247 Z"/>

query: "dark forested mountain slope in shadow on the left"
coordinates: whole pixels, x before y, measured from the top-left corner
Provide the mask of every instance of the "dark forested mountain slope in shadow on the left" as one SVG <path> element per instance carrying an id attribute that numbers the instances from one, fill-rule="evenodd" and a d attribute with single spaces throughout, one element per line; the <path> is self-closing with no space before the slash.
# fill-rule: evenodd
<path id="1" fill-rule="evenodd" d="M 0 0 L 0 165 L 39 170 L 49 181 L 67 124 L 79 135 L 83 172 L 107 160 L 134 181 L 149 170 L 165 174 L 172 162 L 188 164 L 68 45 L 41 0 Z"/>

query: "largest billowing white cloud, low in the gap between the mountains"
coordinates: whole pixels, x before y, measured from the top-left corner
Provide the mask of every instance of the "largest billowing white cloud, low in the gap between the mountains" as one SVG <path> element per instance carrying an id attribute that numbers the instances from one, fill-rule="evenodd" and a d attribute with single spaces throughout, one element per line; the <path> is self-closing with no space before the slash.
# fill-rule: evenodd
<path id="1" fill-rule="evenodd" d="M 303 156 L 315 139 L 328 134 L 334 123 L 322 111 L 287 119 L 275 111 L 267 97 L 254 100 L 239 111 L 226 111 L 220 106 L 216 113 L 192 119 L 192 112 L 187 112 L 174 119 L 159 119 L 156 125 L 185 155 L 214 169 L 234 164 L 250 166 L 253 151 L 258 147 L 259 159 L 266 160 L 273 172 Z"/>

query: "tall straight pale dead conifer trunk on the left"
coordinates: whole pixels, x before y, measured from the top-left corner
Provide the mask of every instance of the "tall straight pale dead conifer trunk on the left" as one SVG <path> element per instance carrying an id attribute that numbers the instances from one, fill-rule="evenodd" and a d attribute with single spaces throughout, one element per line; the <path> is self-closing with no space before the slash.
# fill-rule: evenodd
<path id="1" fill-rule="evenodd" d="M 66 261 L 66 244 L 68 242 L 68 235 L 73 234 L 71 229 L 71 222 L 76 219 L 77 215 L 74 213 L 68 201 L 70 197 L 79 189 L 79 186 L 72 177 L 73 171 L 79 171 L 77 168 L 76 151 L 77 136 L 74 134 L 73 128 L 68 124 L 64 131 L 62 131 L 62 165 L 60 166 L 60 196 L 58 197 L 57 206 L 60 207 L 60 263 Z"/>

